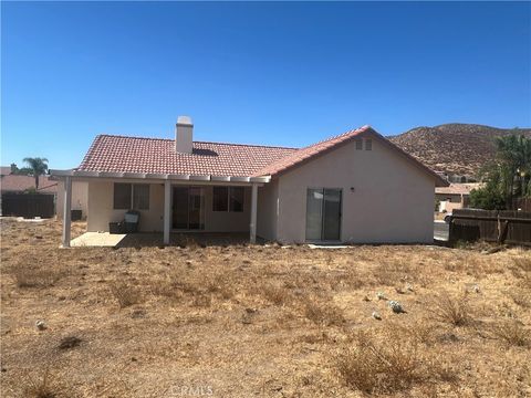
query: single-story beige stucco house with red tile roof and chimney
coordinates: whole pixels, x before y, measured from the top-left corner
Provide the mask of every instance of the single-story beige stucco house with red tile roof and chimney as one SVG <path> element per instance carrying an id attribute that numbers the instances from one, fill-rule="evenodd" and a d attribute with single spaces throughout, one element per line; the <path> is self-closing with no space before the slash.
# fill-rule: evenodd
<path id="1" fill-rule="evenodd" d="M 64 181 L 63 245 L 70 245 L 72 182 L 88 184 L 87 231 L 108 231 L 127 209 L 139 230 L 248 232 L 282 243 L 433 242 L 442 178 L 369 126 L 304 148 L 100 135 Z"/>

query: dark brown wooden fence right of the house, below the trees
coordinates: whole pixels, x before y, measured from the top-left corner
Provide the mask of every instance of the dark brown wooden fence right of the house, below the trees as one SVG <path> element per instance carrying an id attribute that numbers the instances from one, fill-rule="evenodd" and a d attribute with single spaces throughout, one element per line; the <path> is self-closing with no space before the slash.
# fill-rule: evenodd
<path id="1" fill-rule="evenodd" d="M 513 210 L 455 210 L 450 221 L 450 243 L 485 240 L 531 245 L 531 212 Z"/>

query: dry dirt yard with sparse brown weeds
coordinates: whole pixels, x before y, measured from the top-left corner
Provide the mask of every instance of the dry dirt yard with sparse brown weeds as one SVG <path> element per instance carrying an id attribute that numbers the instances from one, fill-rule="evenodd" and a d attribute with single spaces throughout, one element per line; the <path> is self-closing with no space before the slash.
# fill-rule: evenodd
<path id="1" fill-rule="evenodd" d="M 1 221 L 2 397 L 531 396 L 530 251 L 60 237 Z"/>

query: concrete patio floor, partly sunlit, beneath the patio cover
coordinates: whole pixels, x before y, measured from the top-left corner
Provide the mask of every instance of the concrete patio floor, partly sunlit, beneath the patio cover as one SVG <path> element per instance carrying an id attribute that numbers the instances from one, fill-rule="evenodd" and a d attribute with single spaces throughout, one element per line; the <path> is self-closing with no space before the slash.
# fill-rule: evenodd
<path id="1" fill-rule="evenodd" d="M 163 245 L 232 245 L 248 244 L 249 233 L 247 232 L 186 232 L 170 233 L 169 244 L 164 244 L 164 237 L 160 232 L 137 232 L 137 233 L 108 233 L 108 232 L 85 232 L 71 241 L 72 248 L 136 248 L 136 247 L 163 247 Z M 262 243 L 259 240 L 259 243 Z"/>

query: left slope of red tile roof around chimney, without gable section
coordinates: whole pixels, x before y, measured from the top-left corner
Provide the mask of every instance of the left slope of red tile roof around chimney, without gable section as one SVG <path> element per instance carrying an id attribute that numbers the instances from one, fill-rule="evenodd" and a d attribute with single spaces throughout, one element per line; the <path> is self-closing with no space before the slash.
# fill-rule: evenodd
<path id="1" fill-rule="evenodd" d="M 248 177 L 296 150 L 201 142 L 192 147 L 192 154 L 179 154 L 173 139 L 101 135 L 77 170 Z"/>

